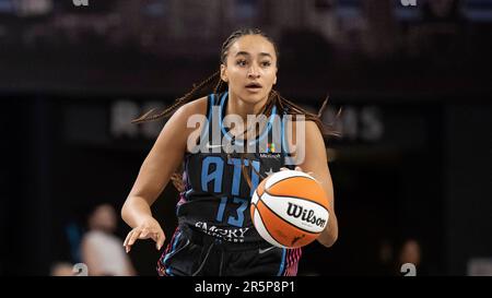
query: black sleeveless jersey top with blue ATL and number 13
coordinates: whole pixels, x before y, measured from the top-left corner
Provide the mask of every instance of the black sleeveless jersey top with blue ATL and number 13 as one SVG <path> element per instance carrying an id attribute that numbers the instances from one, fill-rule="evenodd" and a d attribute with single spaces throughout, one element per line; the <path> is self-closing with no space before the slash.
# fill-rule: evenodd
<path id="1" fill-rule="evenodd" d="M 255 140 L 235 139 L 224 124 L 227 99 L 227 93 L 208 96 L 208 121 L 199 138 L 200 151 L 185 156 L 185 191 L 180 193 L 176 214 L 180 225 L 223 241 L 262 241 L 251 223 L 250 200 L 265 177 L 281 167 L 292 168 L 285 150 L 285 121 L 273 107 L 268 124 Z M 249 174 L 251 188 L 242 172 L 242 164 Z"/>

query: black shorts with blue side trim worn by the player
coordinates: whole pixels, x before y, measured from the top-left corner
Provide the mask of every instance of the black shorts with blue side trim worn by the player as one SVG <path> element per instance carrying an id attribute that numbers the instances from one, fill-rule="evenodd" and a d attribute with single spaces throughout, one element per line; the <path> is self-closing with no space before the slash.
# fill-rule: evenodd
<path id="1" fill-rule="evenodd" d="M 302 250 L 233 243 L 178 227 L 157 262 L 161 276 L 295 276 Z"/>

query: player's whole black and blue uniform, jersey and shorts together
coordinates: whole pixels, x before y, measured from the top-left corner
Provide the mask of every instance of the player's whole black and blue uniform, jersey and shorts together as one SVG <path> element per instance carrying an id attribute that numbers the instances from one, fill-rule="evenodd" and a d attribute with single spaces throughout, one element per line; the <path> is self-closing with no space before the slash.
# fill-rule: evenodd
<path id="1" fill-rule="evenodd" d="M 227 93 L 208 96 L 207 121 L 185 155 L 179 226 L 157 262 L 160 275 L 296 275 L 301 248 L 272 247 L 256 231 L 250 200 L 259 182 L 292 168 L 277 107 L 255 140 L 230 134 Z M 250 178 L 249 187 L 243 167 Z"/>

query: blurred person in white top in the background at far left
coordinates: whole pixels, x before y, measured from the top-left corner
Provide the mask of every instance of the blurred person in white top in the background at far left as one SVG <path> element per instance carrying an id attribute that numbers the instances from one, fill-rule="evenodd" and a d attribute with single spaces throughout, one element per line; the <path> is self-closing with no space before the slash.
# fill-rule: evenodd
<path id="1" fill-rule="evenodd" d="M 89 217 L 90 230 L 81 243 L 82 262 L 90 276 L 134 275 L 134 269 L 125 253 L 121 239 L 113 233 L 117 227 L 115 208 L 109 204 L 95 207 Z"/>

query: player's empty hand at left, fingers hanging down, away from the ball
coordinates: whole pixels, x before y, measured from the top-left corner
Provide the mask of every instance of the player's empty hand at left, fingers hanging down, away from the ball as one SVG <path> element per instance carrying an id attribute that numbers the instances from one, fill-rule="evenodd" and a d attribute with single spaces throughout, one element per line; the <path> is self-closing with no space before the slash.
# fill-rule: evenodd
<path id="1" fill-rule="evenodd" d="M 154 217 L 149 216 L 139 226 L 134 227 L 130 233 L 128 233 L 127 238 L 124 241 L 124 247 L 128 253 L 131 250 L 131 246 L 137 241 L 137 239 L 149 239 L 155 241 L 155 248 L 161 250 L 164 245 L 166 236 L 161 228 L 161 225 L 155 220 Z"/>

